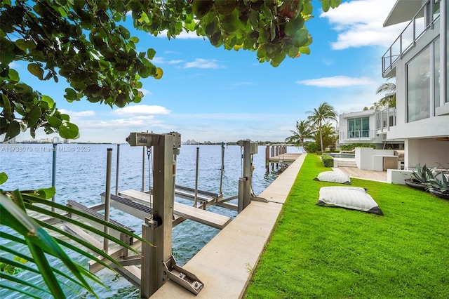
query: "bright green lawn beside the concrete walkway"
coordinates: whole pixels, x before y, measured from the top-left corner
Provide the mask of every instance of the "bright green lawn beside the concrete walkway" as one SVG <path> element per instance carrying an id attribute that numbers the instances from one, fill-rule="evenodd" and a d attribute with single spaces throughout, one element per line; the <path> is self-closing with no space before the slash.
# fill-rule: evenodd
<path id="1" fill-rule="evenodd" d="M 316 206 L 328 170 L 306 157 L 245 298 L 449 298 L 449 201 L 352 179 L 383 216 Z"/>

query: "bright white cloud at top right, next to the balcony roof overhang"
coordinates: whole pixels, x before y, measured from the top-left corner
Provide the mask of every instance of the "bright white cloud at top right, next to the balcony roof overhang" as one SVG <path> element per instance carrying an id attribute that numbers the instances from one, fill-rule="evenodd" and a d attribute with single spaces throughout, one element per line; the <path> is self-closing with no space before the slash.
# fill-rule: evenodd
<path id="1" fill-rule="evenodd" d="M 337 8 L 321 13 L 338 32 L 337 41 L 331 43 L 334 50 L 361 46 L 391 46 L 406 27 L 406 23 L 382 27 L 396 1 L 353 0 Z"/>

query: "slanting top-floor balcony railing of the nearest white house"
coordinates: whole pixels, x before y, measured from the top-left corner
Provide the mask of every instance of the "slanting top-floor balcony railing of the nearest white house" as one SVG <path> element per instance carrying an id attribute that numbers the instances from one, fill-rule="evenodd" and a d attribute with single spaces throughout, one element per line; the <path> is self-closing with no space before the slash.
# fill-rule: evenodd
<path id="1" fill-rule="evenodd" d="M 382 74 L 391 69 L 398 58 L 401 58 L 410 48 L 415 46 L 416 41 L 420 39 L 427 29 L 431 28 L 438 18 L 440 18 L 439 1 L 427 0 L 407 25 L 406 29 L 403 30 L 401 35 L 398 36 L 396 41 L 382 56 Z"/>

